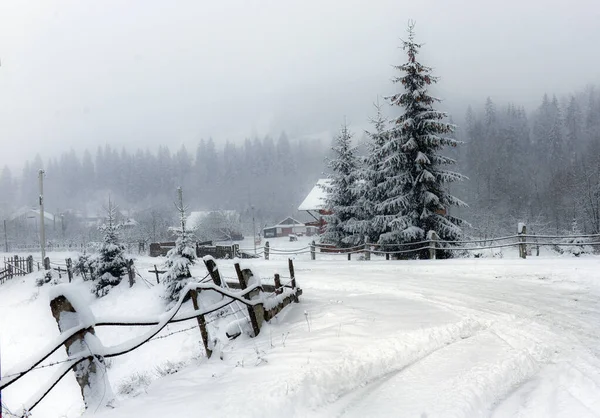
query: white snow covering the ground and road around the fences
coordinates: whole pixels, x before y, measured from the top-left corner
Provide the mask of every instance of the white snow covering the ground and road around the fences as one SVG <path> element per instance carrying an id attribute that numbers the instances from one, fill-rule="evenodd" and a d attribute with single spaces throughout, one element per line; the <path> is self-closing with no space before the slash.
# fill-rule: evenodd
<path id="1" fill-rule="evenodd" d="M 271 240 L 279 248 L 305 244 Z M 133 392 L 121 390 L 115 409 L 90 412 L 102 418 L 600 416 L 600 258 L 506 254 L 387 262 L 299 255 L 301 303 L 258 338 L 224 341 L 223 360 L 204 357 L 197 328 L 150 341 L 107 370 L 115 392 L 127 380 L 138 382 Z M 285 277 L 286 260 L 244 263 L 261 277 Z M 155 279 L 147 270 L 157 261 L 137 257 L 149 282 Z M 218 264 L 224 276 L 234 276 L 232 261 Z M 206 274 L 201 265 L 194 273 Z M 49 287 L 35 287 L 35 276 L 0 285 L 3 374 L 58 335 Z M 89 294 L 88 283 L 73 286 Z M 138 280 L 103 299 L 88 297 L 97 316 L 158 315 L 161 291 Z M 169 325 L 163 335 L 191 325 Z M 143 331 L 98 328 L 97 335 L 112 345 Z M 52 360 L 60 358 L 64 353 Z M 168 367 L 181 370 L 159 378 Z M 3 401 L 17 409 L 52 372 L 23 378 L 3 391 Z M 71 374 L 33 417 L 78 417 L 82 410 Z"/>

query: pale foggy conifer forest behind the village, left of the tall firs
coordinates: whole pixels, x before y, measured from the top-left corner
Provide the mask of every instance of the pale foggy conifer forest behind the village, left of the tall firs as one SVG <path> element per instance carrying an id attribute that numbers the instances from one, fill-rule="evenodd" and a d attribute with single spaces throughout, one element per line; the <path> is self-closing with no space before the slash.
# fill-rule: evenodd
<path id="1" fill-rule="evenodd" d="M 234 209 L 255 206 L 259 219 L 279 220 L 292 214 L 323 171 L 325 147 L 318 140 L 291 141 L 285 133 L 227 142 L 220 149 L 212 139 L 201 140 L 195 153 L 185 146 L 156 152 L 110 145 L 95 154 L 75 151 L 45 163 L 37 155 L 26 161 L 22 175 L 5 167 L 0 173 L 0 212 L 4 216 L 22 206 L 36 206 L 38 170 L 45 176 L 46 210 L 102 213 L 110 193 L 119 206 L 132 212 L 172 206 L 173 191 L 186 190 L 191 210 Z"/>

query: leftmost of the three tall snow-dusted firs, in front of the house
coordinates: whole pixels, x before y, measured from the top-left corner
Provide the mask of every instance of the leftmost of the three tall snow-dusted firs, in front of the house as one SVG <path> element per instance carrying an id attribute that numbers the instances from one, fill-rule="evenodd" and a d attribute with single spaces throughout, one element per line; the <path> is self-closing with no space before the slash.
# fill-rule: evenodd
<path id="1" fill-rule="evenodd" d="M 346 225 L 354 216 L 358 167 L 355 148 L 352 146 L 352 133 L 346 123 L 335 137 L 331 149 L 333 157 L 327 162 L 331 173 L 328 176 L 329 183 L 324 187 L 327 192 L 326 207 L 332 213 L 325 216 L 327 226 L 322 239 L 337 246 L 348 246 L 350 234 L 346 231 Z"/>

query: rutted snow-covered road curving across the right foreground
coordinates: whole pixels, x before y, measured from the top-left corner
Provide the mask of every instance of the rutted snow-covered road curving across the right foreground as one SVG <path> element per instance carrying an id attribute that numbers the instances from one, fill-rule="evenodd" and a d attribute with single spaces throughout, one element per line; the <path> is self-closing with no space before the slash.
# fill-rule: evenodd
<path id="1" fill-rule="evenodd" d="M 488 325 L 322 415 L 600 416 L 599 266 L 531 262 L 492 262 L 502 269 L 456 262 L 455 274 L 439 280 L 423 268 L 398 280 L 394 288 L 405 296 Z"/>

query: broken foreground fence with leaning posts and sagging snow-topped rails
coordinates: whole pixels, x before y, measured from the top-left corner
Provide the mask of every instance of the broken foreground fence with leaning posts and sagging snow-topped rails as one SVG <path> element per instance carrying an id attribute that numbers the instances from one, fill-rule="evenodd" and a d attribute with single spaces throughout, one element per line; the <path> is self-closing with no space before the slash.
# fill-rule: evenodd
<path id="1" fill-rule="evenodd" d="M 211 357 L 213 346 L 207 329 L 207 315 L 221 311 L 232 303 L 242 304 L 248 313 L 248 320 L 251 325 L 249 335 L 255 337 L 260 333 L 264 321 L 269 321 L 285 306 L 293 302 L 298 302 L 299 296 L 302 295 L 302 289 L 296 285 L 292 260 L 288 262 L 290 280 L 282 284 L 280 276 L 275 275 L 273 285 L 262 284 L 260 279 L 254 277 L 250 269 L 242 269 L 239 264 L 235 265 L 237 282 L 228 282 L 227 278 L 221 277 L 219 269 L 212 258 L 206 258 L 205 264 L 208 269 L 207 277 L 210 276 L 212 283 L 196 282 L 188 284 L 182 291 L 175 306 L 165 315 L 156 319 L 105 318 L 95 319 L 94 323 L 88 323 L 86 320 L 89 321 L 89 318 L 93 318 L 93 315 L 91 315 L 89 307 L 78 302 L 79 298 L 77 295 L 71 294 L 68 288 L 55 294 L 50 302 L 50 308 L 61 334 L 54 341 L 49 342 L 44 352 L 21 363 L 25 365 L 22 366 L 21 370 L 8 372 L 0 380 L 1 391 L 17 382 L 32 370 L 41 367 L 58 366 L 54 377 L 24 404 L 22 410 L 18 411 L 16 416 L 28 416 L 29 412 L 39 404 L 70 370 L 76 372 L 76 380 L 81 388 L 86 408 L 100 405 L 98 399 L 94 398 L 94 394 L 110 393 L 109 387 L 102 386 L 108 385 L 104 360 L 129 353 L 141 347 L 156 337 L 168 324 L 196 319 L 200 329 L 200 339 L 206 350 L 206 355 Z M 240 289 L 240 291 L 234 292 L 231 290 L 232 288 Z M 219 293 L 222 295 L 221 301 L 210 306 L 201 307 L 201 301 L 198 296 L 200 292 L 206 291 Z M 194 310 L 179 314 L 184 301 L 188 299 L 191 299 Z M 234 311 L 234 313 L 237 312 Z M 140 337 L 112 347 L 104 347 L 102 344 L 90 344 L 90 341 L 97 340 L 95 327 L 100 326 L 151 328 Z M 234 338 L 237 335 L 230 335 L 230 338 Z M 60 349 L 61 346 L 64 346 L 67 351 L 68 358 L 66 360 L 41 365 L 44 360 Z M 106 403 L 110 400 L 103 399 L 100 402 Z"/>

